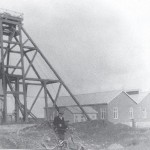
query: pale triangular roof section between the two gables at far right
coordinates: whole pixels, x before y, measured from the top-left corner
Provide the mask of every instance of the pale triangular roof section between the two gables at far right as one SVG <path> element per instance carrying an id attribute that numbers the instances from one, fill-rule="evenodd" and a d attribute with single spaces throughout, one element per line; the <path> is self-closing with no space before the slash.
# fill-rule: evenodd
<path id="1" fill-rule="evenodd" d="M 139 94 L 129 95 L 137 104 L 139 104 L 146 96 L 150 94 L 149 92 L 140 92 Z"/>

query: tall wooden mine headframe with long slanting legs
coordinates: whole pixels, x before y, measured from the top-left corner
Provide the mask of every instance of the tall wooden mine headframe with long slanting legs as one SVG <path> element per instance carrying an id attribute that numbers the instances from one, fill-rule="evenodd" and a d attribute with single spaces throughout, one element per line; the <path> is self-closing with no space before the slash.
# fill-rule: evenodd
<path id="1" fill-rule="evenodd" d="M 44 89 L 43 91 L 46 116 L 48 116 L 48 97 L 53 102 L 57 111 L 59 111 L 56 100 L 59 96 L 62 86 L 73 98 L 86 118 L 89 119 L 88 115 L 81 107 L 76 97 L 71 93 L 69 88 L 60 78 L 58 73 L 54 70 L 47 58 L 43 55 L 29 34 L 25 31 L 22 21 L 23 15 L 21 13 L 0 10 L 1 71 L 4 93 L 3 121 L 7 122 L 7 95 L 10 94 L 15 99 L 16 122 L 19 120 L 19 112 L 21 112 L 23 120 L 27 122 L 29 115 L 33 118 L 36 118 L 36 116 L 32 113 L 32 108 L 34 107 L 34 104 L 36 103 L 42 89 Z M 54 79 L 43 79 L 40 76 L 39 70 L 37 70 L 34 66 L 34 61 L 37 55 L 40 55 L 40 57 L 48 65 L 49 69 L 55 75 Z M 25 60 L 28 63 L 25 63 Z M 33 78 L 28 75 L 30 69 L 33 70 L 33 72 L 36 74 L 36 77 Z M 47 86 L 49 84 L 56 83 L 59 86 L 57 89 L 56 97 L 53 98 L 51 91 L 47 88 Z M 29 85 L 40 86 L 40 90 L 35 96 L 31 107 L 27 108 L 27 87 Z"/>

